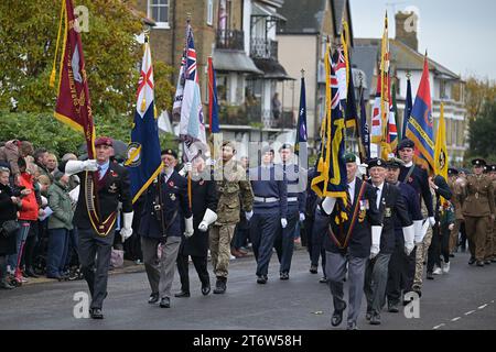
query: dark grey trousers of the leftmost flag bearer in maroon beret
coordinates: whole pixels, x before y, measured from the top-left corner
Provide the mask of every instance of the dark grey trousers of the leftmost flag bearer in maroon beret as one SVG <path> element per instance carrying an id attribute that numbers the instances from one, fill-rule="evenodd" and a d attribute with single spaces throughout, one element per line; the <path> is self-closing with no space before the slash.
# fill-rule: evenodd
<path id="1" fill-rule="evenodd" d="M 98 235 L 93 229 L 78 229 L 79 234 L 79 263 L 83 276 L 91 294 L 90 308 L 101 309 L 107 296 L 108 268 L 112 251 L 115 231 L 111 230 L 105 238 Z"/>

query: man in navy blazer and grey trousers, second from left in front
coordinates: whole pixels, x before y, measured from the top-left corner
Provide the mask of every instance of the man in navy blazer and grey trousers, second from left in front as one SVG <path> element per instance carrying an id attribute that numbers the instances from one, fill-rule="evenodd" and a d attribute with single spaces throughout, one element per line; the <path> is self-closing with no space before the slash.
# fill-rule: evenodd
<path id="1" fill-rule="evenodd" d="M 193 234 L 193 217 L 187 196 L 187 180 L 175 169 L 177 154 L 172 150 L 162 151 L 164 169 L 148 188 L 141 213 L 141 249 L 144 268 L 151 287 L 149 304 L 160 298 L 161 308 L 171 307 L 171 287 L 174 279 L 175 261 L 181 237 Z M 161 256 L 158 257 L 158 246 Z"/>

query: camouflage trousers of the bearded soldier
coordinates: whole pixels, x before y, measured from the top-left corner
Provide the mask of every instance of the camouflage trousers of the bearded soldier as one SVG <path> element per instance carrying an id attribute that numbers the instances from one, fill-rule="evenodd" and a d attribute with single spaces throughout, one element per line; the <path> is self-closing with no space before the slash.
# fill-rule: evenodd
<path id="1" fill-rule="evenodd" d="M 215 224 L 209 231 L 212 266 L 217 277 L 227 277 L 230 257 L 230 241 L 236 224 Z"/>

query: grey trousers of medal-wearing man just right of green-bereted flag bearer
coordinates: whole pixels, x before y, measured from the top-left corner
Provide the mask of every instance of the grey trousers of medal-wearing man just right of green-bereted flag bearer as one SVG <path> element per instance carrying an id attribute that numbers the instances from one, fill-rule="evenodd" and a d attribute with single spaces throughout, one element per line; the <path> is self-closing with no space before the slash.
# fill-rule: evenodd
<path id="1" fill-rule="evenodd" d="M 367 262 L 364 286 L 367 312 L 378 315 L 385 304 L 390 258 L 391 254 L 379 253 L 374 260 Z"/>

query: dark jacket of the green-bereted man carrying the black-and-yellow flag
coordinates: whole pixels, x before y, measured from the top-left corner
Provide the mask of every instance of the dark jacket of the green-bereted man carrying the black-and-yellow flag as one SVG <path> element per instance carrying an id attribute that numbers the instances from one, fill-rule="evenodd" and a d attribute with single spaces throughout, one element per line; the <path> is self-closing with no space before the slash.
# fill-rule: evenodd
<path id="1" fill-rule="evenodd" d="M 380 226 L 380 217 L 379 211 L 376 206 L 376 190 L 369 184 L 365 184 L 364 195 L 360 199 L 358 199 L 362 184 L 364 182 L 359 178 L 356 178 L 355 183 L 355 195 L 353 205 L 351 208 L 351 213 L 348 213 L 348 220 L 346 220 L 343 224 L 343 234 L 346 235 L 349 233 L 351 238 L 348 241 L 348 245 L 345 250 L 339 250 L 336 243 L 332 240 L 330 233 L 324 237 L 324 248 L 326 251 L 333 253 L 346 253 L 346 251 L 355 257 L 367 257 L 370 255 L 370 246 L 371 246 L 371 227 Z M 353 231 L 349 231 L 349 227 L 352 224 L 353 213 L 356 207 L 360 207 L 358 209 L 358 216 L 355 221 Z M 333 233 L 338 237 L 341 233 L 339 226 L 336 224 L 335 219 L 338 215 L 339 207 L 336 205 L 334 207 L 333 212 L 331 213 L 331 230 Z M 344 242 L 344 241 L 343 241 Z"/>

